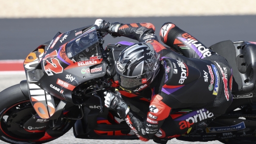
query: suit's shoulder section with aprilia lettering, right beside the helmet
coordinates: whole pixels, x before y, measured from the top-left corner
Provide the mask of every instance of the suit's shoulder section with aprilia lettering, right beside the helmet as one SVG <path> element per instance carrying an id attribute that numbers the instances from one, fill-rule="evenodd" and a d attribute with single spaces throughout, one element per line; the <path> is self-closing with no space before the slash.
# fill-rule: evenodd
<path id="1" fill-rule="evenodd" d="M 186 85 L 200 78 L 200 72 L 182 62 L 173 58 L 163 58 L 161 63 L 164 67 L 165 84 L 168 86 Z"/>

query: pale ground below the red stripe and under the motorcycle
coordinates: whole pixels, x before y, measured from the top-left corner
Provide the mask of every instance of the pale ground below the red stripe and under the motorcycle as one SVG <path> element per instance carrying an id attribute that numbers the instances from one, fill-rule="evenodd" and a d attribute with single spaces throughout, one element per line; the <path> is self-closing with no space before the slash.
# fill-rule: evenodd
<path id="1" fill-rule="evenodd" d="M 25 80 L 26 76 L 24 74 L 12 74 L 12 75 L 0 75 L 0 91 L 3 89 L 19 84 L 20 81 Z M 0 141 L 0 144 L 8 144 Z M 58 138 L 54 141 L 51 141 L 47 144 L 157 144 L 150 140 L 148 142 L 143 142 L 140 140 L 86 140 L 86 139 L 76 139 L 73 135 L 73 130 L 69 130 L 64 136 Z M 167 144 L 222 144 L 219 141 L 211 142 L 184 142 L 173 139 Z"/>

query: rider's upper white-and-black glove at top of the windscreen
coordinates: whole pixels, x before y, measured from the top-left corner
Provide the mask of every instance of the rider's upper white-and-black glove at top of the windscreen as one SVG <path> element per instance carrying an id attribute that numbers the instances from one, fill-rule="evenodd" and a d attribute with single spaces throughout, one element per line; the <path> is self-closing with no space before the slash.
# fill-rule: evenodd
<path id="1" fill-rule="evenodd" d="M 118 29 L 122 24 L 118 22 L 110 23 L 103 19 L 96 19 L 95 25 L 97 25 L 101 31 L 102 37 L 106 36 L 108 33 L 110 33 L 113 37 L 117 37 Z"/>

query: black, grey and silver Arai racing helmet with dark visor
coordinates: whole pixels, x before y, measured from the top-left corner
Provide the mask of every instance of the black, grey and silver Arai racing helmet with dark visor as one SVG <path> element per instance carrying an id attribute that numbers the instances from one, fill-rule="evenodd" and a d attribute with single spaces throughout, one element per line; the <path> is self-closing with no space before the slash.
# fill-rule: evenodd
<path id="1" fill-rule="evenodd" d="M 150 43 L 135 43 L 125 48 L 116 62 L 120 87 L 136 93 L 150 86 L 160 70 L 159 58 Z"/>

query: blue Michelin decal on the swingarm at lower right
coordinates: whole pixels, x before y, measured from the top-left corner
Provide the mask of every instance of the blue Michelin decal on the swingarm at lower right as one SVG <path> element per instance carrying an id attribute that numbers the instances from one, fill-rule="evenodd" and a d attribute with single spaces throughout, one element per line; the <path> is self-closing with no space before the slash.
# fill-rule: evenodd
<path id="1" fill-rule="evenodd" d="M 206 133 L 227 132 L 245 129 L 244 122 L 229 127 L 208 127 Z"/>

